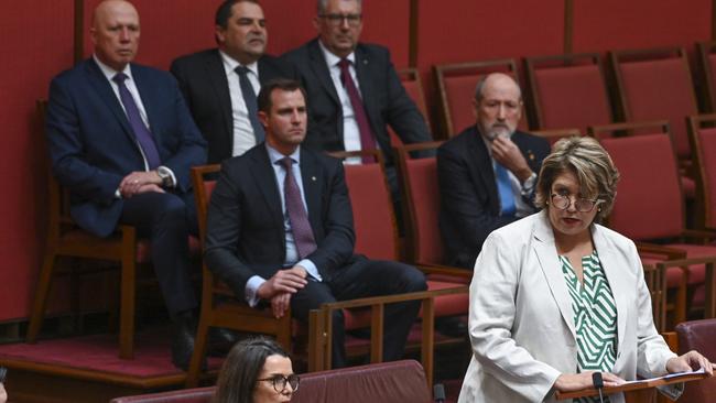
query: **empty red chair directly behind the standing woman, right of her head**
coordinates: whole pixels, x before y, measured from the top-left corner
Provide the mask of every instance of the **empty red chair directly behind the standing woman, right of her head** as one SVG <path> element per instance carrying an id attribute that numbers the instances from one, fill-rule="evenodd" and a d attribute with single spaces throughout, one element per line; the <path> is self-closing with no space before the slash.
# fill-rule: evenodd
<path id="1" fill-rule="evenodd" d="M 684 200 L 665 121 L 595 127 L 590 132 L 600 139 L 620 173 L 609 227 L 634 241 L 660 241 L 663 247 L 685 252 L 686 258 L 716 257 L 716 247 L 690 243 L 702 233 L 684 226 Z M 620 132 L 639 134 L 617 137 Z M 638 246 L 640 252 L 648 251 L 646 244 Z M 676 323 L 684 320 L 687 307 L 695 305 L 694 301 L 686 301 L 685 286 L 688 285 L 690 295 L 699 287 L 703 292 L 705 281 L 704 264 L 683 265 L 688 269 L 673 268 L 666 272 L 668 286 L 681 286 L 679 299 L 685 302 L 685 306 L 676 308 Z"/>

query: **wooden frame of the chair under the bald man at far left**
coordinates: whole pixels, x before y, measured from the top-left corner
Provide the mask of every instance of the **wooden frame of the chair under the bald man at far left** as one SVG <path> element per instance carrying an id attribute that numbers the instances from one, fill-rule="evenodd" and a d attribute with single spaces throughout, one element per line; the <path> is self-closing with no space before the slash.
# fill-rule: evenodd
<path id="1" fill-rule="evenodd" d="M 46 101 L 37 102 L 43 126 L 46 107 Z M 47 175 L 47 193 L 50 206 L 47 241 L 30 315 L 26 341 L 34 344 L 37 340 L 57 258 L 108 260 L 120 263 L 119 357 L 133 358 L 138 240 L 134 228 L 120 225 L 115 235 L 108 238 L 99 238 L 82 230 L 69 217 L 69 193 L 61 187 L 52 170 L 48 170 Z M 68 233 L 72 233 L 72 237 L 67 237 Z"/>

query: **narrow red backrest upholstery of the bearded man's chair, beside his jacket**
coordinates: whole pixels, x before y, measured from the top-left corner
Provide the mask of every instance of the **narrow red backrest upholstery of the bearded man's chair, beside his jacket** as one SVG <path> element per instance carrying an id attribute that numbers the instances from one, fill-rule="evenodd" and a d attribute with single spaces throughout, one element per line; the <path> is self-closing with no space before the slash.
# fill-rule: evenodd
<path id="1" fill-rule="evenodd" d="M 435 157 L 406 160 L 406 181 L 410 182 L 410 199 L 415 209 L 413 237 L 414 260 L 421 263 L 443 262 L 443 241 L 438 222 L 440 193 L 437 188 L 437 162 Z"/>

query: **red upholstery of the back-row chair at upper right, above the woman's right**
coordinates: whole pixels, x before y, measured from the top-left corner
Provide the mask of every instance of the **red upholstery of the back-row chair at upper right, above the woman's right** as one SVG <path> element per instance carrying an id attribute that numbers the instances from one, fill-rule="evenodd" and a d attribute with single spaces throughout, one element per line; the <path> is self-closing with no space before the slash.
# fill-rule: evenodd
<path id="1" fill-rule="evenodd" d="M 690 156 L 684 119 L 697 113 L 688 66 L 682 58 L 621 63 L 628 119 L 669 119 L 680 157 Z"/>

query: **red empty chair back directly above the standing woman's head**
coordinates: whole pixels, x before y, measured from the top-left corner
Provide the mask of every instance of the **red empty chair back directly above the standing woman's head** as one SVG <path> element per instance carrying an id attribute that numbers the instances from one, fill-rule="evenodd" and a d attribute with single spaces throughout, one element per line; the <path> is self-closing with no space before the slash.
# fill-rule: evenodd
<path id="1" fill-rule="evenodd" d="M 527 57 L 524 64 L 536 128 L 586 132 L 614 121 L 599 54 Z"/>

